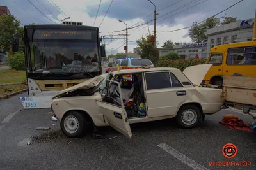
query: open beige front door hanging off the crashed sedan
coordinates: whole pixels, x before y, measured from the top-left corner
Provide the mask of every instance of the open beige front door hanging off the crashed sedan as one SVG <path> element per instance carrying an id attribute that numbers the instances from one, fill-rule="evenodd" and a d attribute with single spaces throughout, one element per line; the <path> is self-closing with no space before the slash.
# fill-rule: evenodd
<path id="1" fill-rule="evenodd" d="M 112 90 L 109 87 L 115 88 Z M 118 92 L 116 88 L 118 88 Z M 113 80 L 106 80 L 106 90 L 106 94 L 102 95 L 102 101 L 96 100 L 96 103 L 102 110 L 104 120 L 116 131 L 124 134 L 124 136 L 127 136 L 128 138 L 131 138 L 132 132 L 127 113 L 124 108 L 120 83 Z M 120 98 L 119 102 L 117 100 L 118 98 Z"/>

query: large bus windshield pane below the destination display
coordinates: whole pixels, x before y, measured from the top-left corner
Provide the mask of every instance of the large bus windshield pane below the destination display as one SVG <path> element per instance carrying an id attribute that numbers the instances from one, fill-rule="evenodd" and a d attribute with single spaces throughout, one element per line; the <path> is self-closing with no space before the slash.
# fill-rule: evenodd
<path id="1" fill-rule="evenodd" d="M 34 73 L 99 71 L 97 43 L 33 42 Z"/>

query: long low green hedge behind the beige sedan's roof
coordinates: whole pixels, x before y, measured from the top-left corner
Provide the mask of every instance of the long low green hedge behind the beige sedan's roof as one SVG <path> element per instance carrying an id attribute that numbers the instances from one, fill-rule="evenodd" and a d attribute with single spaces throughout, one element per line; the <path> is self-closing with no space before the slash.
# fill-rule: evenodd
<path id="1" fill-rule="evenodd" d="M 206 59 L 188 59 L 188 60 L 158 60 L 154 63 L 155 67 L 173 67 L 184 71 L 186 67 L 205 64 Z"/>

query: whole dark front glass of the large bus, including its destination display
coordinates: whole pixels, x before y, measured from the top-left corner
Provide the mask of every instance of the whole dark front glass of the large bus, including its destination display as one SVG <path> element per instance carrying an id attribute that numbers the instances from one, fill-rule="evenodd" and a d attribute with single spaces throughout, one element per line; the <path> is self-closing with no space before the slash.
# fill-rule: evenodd
<path id="1" fill-rule="evenodd" d="M 76 78 L 97 76 L 100 72 L 97 33 L 95 30 L 28 29 L 25 43 L 30 51 L 26 53 L 28 72 L 73 77 L 76 74 Z"/>

